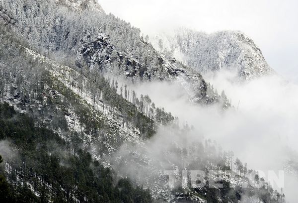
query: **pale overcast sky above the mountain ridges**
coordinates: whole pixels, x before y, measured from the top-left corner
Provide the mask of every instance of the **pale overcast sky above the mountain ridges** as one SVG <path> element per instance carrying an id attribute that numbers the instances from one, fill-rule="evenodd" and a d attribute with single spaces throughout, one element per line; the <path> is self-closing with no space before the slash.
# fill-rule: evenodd
<path id="1" fill-rule="evenodd" d="M 298 83 L 297 0 L 98 0 L 104 10 L 156 33 L 176 26 L 241 30 L 278 73 Z"/>

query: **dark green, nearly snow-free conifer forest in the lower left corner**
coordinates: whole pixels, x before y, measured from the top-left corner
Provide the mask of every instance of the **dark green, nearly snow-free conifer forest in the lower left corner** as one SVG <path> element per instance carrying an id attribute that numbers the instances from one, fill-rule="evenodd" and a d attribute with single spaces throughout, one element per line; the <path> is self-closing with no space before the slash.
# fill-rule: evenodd
<path id="1" fill-rule="evenodd" d="M 34 126 L 32 118 L 7 103 L 0 104 L 0 126 L 0 138 L 9 139 L 6 144 L 15 153 L 4 154 L 10 159 L 0 166 L 1 202 L 151 202 L 149 190 L 117 178 L 86 149 L 70 147 L 73 143 L 50 129 Z M 7 182 L 2 180 L 3 170 Z"/>

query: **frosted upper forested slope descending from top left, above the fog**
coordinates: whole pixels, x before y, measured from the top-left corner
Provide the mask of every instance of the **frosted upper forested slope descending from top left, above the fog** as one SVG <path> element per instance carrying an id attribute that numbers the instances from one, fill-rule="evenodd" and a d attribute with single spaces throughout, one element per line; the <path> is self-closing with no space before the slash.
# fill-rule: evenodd
<path id="1" fill-rule="evenodd" d="M 102 72 L 134 82 L 178 81 L 191 101 L 229 106 L 199 73 L 158 53 L 140 37 L 139 29 L 100 9 L 76 12 L 73 6 L 64 7 L 54 0 L 17 0 L 1 6 L 1 19 L 47 56 L 76 58 L 66 61 L 76 61 L 78 69 L 96 65 Z"/>

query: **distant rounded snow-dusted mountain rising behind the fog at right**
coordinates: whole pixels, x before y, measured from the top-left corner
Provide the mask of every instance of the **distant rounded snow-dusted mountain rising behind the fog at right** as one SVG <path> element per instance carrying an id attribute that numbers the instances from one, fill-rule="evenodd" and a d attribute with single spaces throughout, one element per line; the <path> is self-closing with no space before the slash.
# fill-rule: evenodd
<path id="1" fill-rule="evenodd" d="M 207 34 L 179 28 L 153 37 L 152 43 L 203 75 L 228 69 L 250 80 L 274 73 L 253 40 L 240 31 Z"/>

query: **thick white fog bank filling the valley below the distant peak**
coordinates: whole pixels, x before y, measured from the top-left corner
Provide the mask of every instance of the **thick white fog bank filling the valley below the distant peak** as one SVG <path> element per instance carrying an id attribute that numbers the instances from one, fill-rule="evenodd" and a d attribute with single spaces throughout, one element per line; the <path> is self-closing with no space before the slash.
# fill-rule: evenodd
<path id="1" fill-rule="evenodd" d="M 231 99 L 233 107 L 224 111 L 216 105 L 189 103 L 178 84 L 147 83 L 139 85 L 135 91 L 138 95 L 148 94 L 156 106 L 177 115 L 180 125 L 193 125 L 189 143 L 215 140 L 225 151 L 232 150 L 248 168 L 265 172 L 284 170 L 289 160 L 298 162 L 298 86 L 278 75 L 243 83 L 235 83 L 238 81 L 235 77 L 235 73 L 225 70 L 204 76 L 218 92 L 224 90 Z M 155 144 L 147 145 L 149 151 L 168 147 L 166 143 L 173 139 L 171 136 L 171 133 L 159 133 L 154 138 Z M 155 152 L 162 154 L 160 150 Z M 287 201 L 295 203 L 298 177 L 286 173 L 285 179 Z M 275 189 L 281 191 L 276 186 Z"/>

